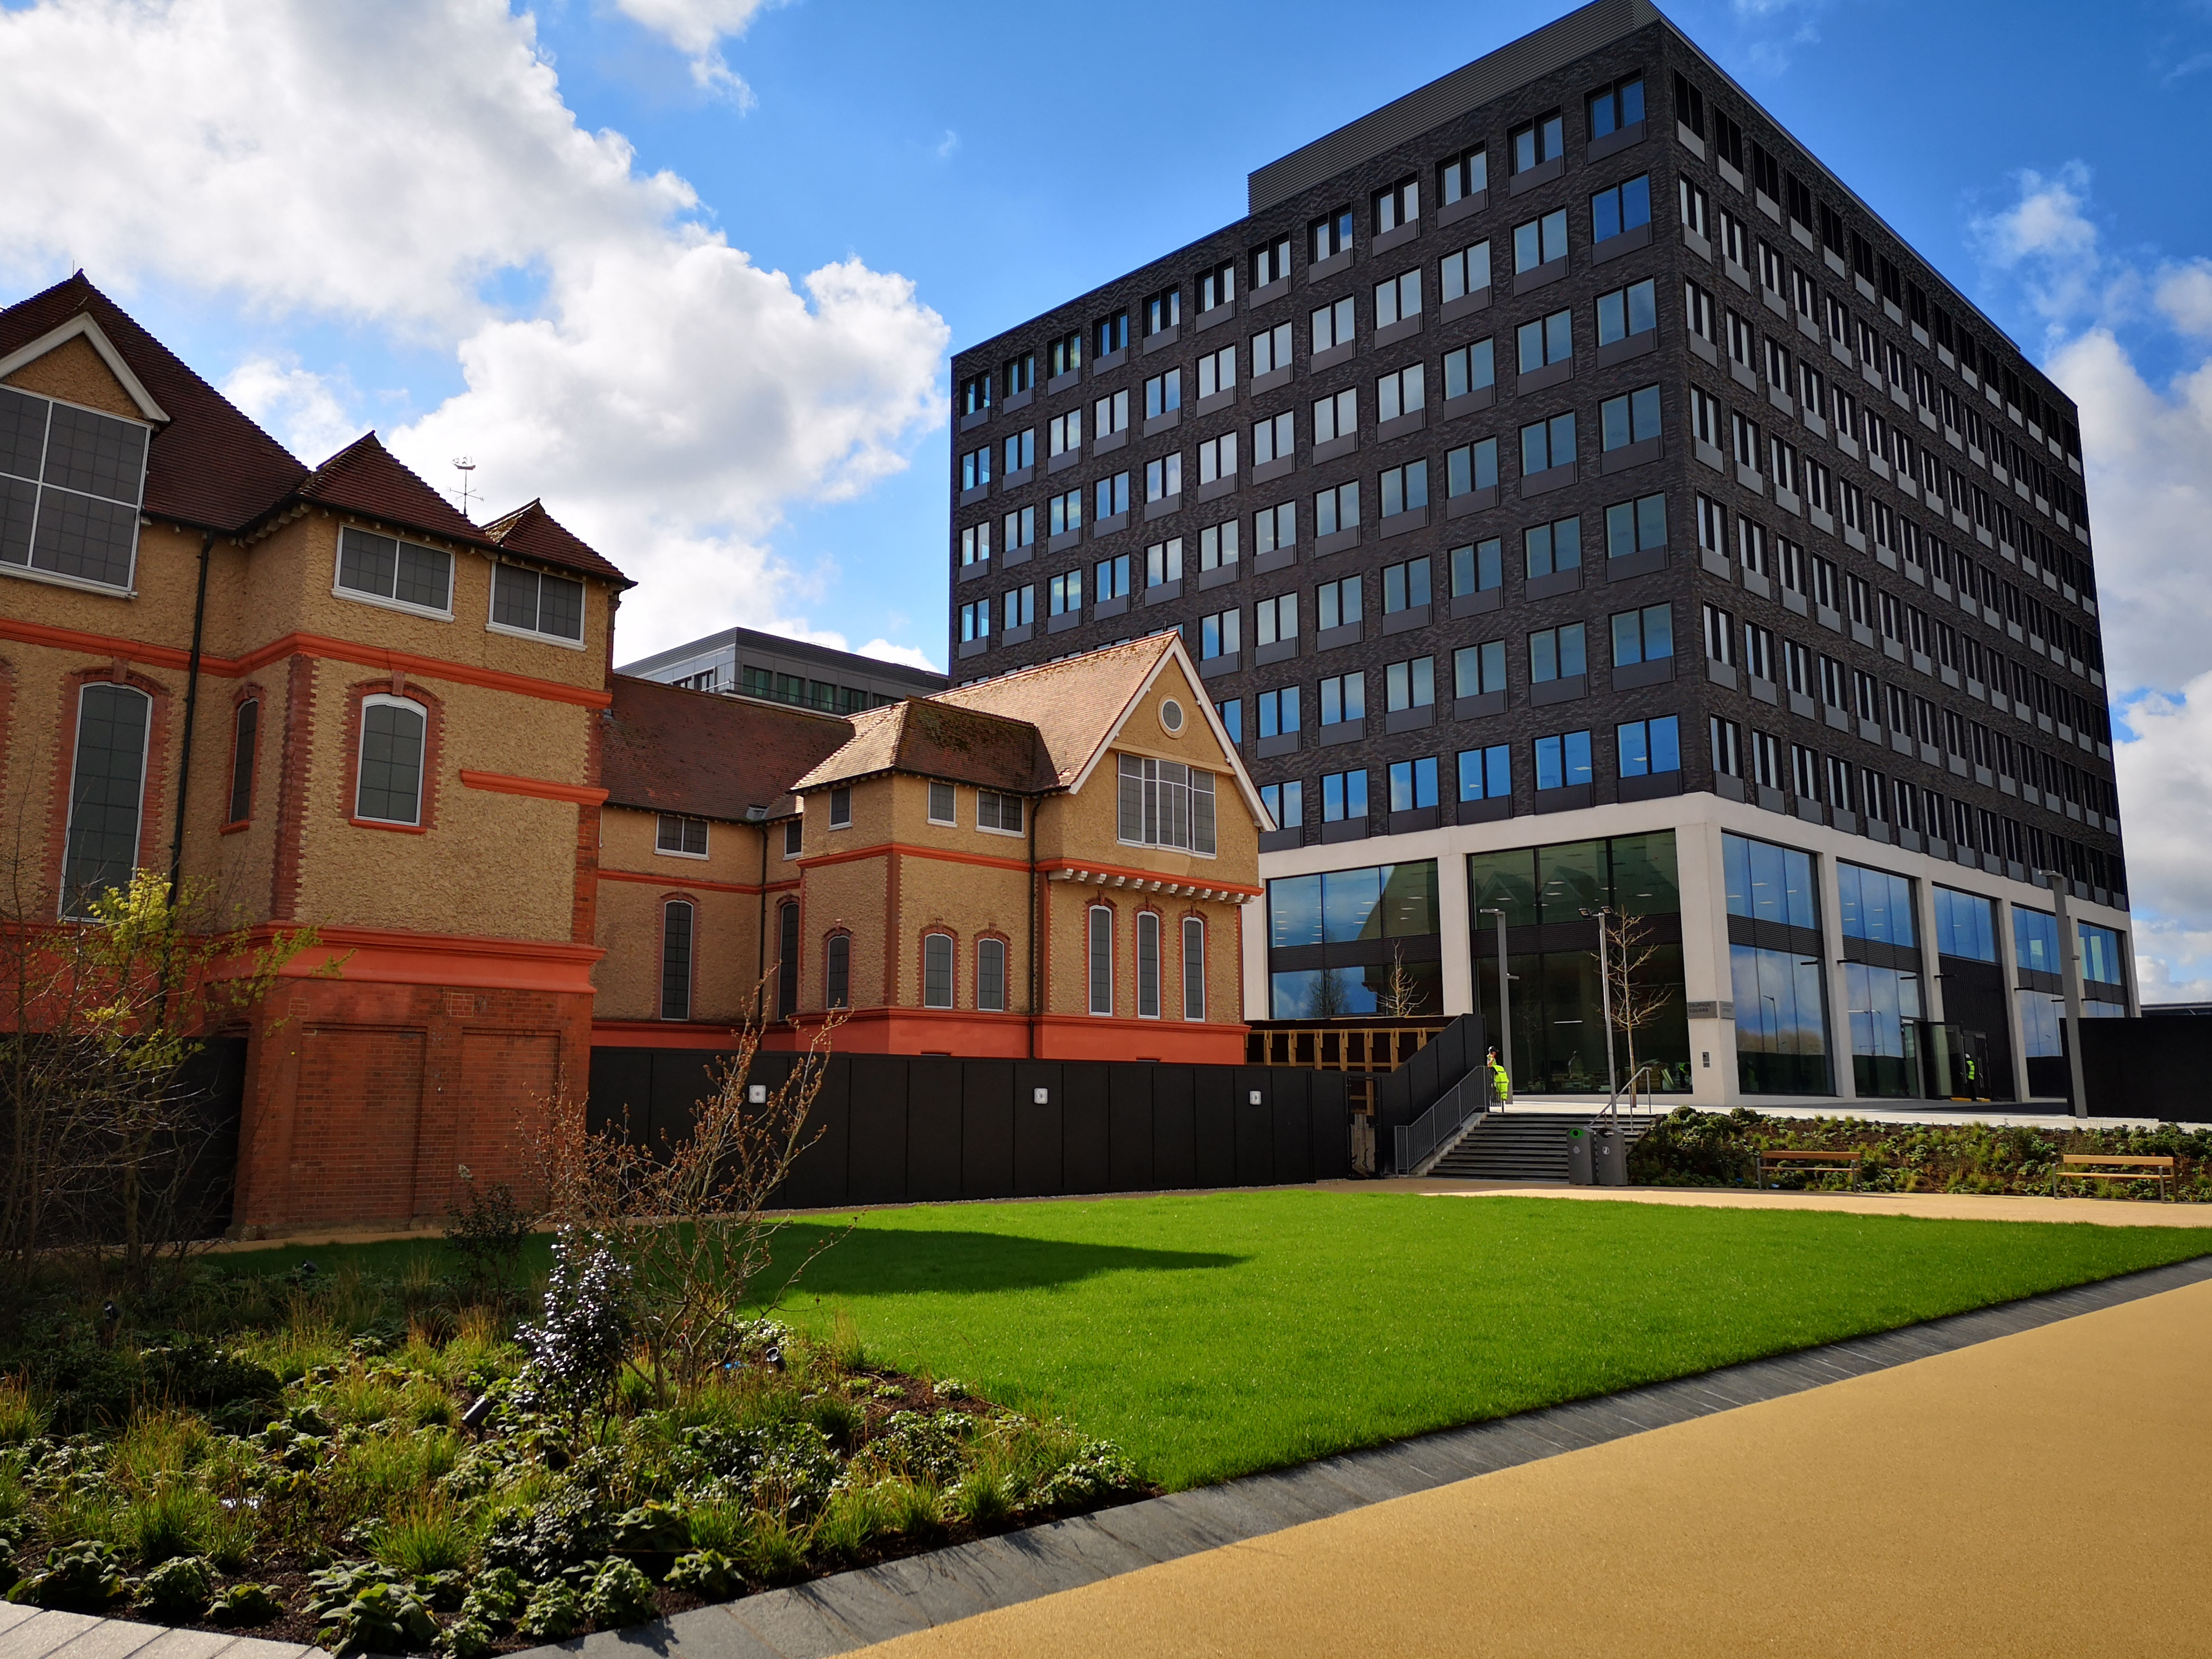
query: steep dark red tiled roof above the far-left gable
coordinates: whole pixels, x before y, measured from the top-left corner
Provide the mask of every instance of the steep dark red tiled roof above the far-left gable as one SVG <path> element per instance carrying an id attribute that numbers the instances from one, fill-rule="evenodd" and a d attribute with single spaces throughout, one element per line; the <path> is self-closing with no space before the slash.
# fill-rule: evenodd
<path id="1" fill-rule="evenodd" d="M 80 314 L 100 325 L 137 387 L 168 416 L 166 425 L 155 427 L 146 449 L 148 513 L 237 533 L 307 476 L 296 456 L 184 367 L 166 345 L 93 288 L 84 272 L 0 310 L 0 358 L 55 334 Z"/>

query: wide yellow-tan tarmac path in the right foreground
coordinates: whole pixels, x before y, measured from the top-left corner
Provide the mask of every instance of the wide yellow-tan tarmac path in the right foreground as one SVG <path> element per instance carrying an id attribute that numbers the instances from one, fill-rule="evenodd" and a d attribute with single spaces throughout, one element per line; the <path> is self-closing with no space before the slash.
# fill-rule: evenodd
<path id="1" fill-rule="evenodd" d="M 2212 1655 L 2208 1376 L 2201 1283 L 863 1652 Z"/>

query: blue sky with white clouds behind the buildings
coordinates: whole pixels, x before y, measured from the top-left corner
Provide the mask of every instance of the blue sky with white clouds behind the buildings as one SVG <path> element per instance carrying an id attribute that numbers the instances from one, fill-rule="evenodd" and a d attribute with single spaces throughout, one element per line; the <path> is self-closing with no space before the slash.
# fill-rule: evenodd
<path id="1" fill-rule="evenodd" d="M 0 292 L 84 261 L 312 460 L 476 453 L 648 577 L 624 657 L 942 666 L 947 352 L 1559 9 L 0 0 Z M 2081 398 L 2146 984 L 2212 995 L 2212 7 L 1666 9 Z"/>

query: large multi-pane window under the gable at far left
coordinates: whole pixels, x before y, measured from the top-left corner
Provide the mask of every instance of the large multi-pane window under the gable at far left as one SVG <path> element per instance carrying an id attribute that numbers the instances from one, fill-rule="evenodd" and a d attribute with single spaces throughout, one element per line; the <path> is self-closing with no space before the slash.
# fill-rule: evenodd
<path id="1" fill-rule="evenodd" d="M 0 387 L 0 564 L 131 588 L 146 427 Z"/>

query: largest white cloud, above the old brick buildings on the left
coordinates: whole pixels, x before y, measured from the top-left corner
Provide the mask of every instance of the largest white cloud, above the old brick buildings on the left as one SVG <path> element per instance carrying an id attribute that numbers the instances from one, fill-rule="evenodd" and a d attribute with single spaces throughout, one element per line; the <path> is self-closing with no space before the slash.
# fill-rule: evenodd
<path id="1" fill-rule="evenodd" d="M 695 58 L 761 0 L 622 0 Z M 241 73 L 252 64 L 252 73 Z M 467 389 L 387 442 L 491 504 L 542 495 L 644 586 L 637 657 L 799 630 L 768 538 L 905 467 L 945 418 L 949 332 L 858 261 L 796 283 L 701 223 L 672 173 L 562 102 L 507 0 L 40 0 L 0 9 L 0 274 L 195 283 L 265 314 L 445 345 Z M 489 299 L 520 274 L 520 314 Z M 254 358 L 241 403 L 321 460 L 341 376 Z"/>

